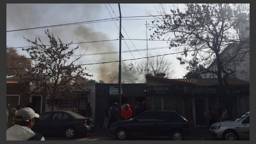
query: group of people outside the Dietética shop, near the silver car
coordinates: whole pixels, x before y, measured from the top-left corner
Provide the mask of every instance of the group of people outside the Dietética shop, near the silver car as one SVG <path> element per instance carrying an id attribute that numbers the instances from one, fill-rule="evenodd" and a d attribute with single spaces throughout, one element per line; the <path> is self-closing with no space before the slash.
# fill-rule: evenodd
<path id="1" fill-rule="evenodd" d="M 219 106 L 217 111 L 212 107 L 208 108 L 208 112 L 205 117 L 209 120 L 209 126 L 214 123 L 226 121 L 228 119 L 228 111 L 225 107 Z"/>

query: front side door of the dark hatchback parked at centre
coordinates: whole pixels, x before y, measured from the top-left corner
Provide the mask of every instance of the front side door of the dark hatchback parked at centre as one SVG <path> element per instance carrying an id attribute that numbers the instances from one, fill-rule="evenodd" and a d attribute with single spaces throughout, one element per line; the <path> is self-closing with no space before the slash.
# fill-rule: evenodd
<path id="1" fill-rule="evenodd" d="M 127 128 L 131 135 L 150 136 L 154 131 L 157 121 L 157 113 L 154 111 L 146 111 L 127 124 Z"/>

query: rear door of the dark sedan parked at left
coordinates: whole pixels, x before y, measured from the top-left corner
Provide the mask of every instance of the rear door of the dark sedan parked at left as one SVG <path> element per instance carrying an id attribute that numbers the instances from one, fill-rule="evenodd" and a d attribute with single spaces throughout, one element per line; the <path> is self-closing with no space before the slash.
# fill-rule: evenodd
<path id="1" fill-rule="evenodd" d="M 62 134 L 64 128 L 68 125 L 68 117 L 64 112 L 54 113 L 49 121 L 49 131 L 55 134 Z"/>

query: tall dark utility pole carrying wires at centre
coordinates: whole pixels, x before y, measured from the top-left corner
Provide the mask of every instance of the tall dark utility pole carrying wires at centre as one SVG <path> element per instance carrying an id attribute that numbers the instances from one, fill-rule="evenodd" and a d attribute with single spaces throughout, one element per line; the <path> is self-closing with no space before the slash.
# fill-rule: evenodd
<path id="1" fill-rule="evenodd" d="M 122 34 L 121 34 L 121 9 L 120 4 L 118 4 L 119 8 L 119 15 L 120 15 L 120 29 L 119 29 L 119 70 L 118 70 L 118 96 L 120 98 L 119 101 L 119 119 L 121 116 L 121 40 L 122 40 Z"/>

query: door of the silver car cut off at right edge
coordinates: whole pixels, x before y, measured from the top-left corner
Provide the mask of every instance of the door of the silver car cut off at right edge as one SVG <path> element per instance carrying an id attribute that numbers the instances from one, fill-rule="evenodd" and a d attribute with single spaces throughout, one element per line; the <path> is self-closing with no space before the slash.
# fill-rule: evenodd
<path id="1" fill-rule="evenodd" d="M 241 138 L 250 138 L 250 115 L 239 122 Z"/>

